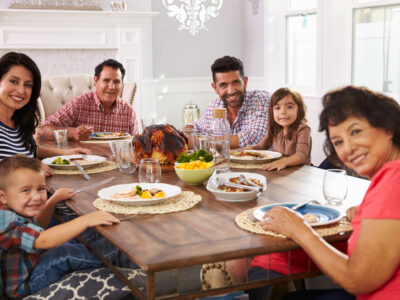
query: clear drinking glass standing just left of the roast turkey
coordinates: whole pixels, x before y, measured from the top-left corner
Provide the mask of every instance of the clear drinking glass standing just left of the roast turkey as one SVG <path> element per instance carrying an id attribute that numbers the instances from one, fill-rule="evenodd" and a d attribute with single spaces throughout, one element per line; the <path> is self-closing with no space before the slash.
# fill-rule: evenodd
<path id="1" fill-rule="evenodd" d="M 130 140 L 109 142 L 114 161 L 121 173 L 133 173 L 136 170 L 135 151 Z"/>

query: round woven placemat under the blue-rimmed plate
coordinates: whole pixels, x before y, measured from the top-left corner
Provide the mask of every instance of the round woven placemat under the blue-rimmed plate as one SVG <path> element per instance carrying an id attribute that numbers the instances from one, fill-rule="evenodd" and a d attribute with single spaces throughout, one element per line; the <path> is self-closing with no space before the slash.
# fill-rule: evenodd
<path id="1" fill-rule="evenodd" d="M 262 229 L 260 226 L 259 222 L 254 222 L 252 219 L 250 219 L 250 216 L 253 216 L 253 210 L 254 208 L 247 209 L 240 213 L 239 215 L 236 216 L 235 222 L 236 225 L 239 226 L 240 228 L 250 231 L 252 233 L 257 233 L 257 234 L 265 234 L 265 235 L 270 235 L 274 237 L 280 237 L 280 238 L 286 238 L 286 236 L 282 234 L 277 234 L 272 231 L 266 231 Z M 329 236 L 329 235 L 334 235 L 338 234 L 340 232 L 347 232 L 351 231 L 352 227 L 349 222 L 340 222 L 340 223 L 335 223 L 332 225 L 327 225 L 327 226 L 319 226 L 319 227 L 314 227 L 314 230 L 322 237 L 324 236 Z"/>

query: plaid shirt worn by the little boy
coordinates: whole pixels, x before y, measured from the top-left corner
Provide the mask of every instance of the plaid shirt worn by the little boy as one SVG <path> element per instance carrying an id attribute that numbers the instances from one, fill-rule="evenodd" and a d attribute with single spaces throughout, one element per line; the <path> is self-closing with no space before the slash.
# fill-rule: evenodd
<path id="1" fill-rule="evenodd" d="M 33 248 L 33 243 L 42 230 L 38 223 L 32 223 L 0 204 L 1 295 L 19 298 L 29 294 L 27 279 L 42 253 Z"/>

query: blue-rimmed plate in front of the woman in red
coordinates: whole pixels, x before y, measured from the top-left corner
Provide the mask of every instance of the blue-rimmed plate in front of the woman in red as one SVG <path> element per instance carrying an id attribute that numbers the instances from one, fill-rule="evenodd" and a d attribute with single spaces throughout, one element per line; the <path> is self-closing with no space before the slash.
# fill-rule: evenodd
<path id="1" fill-rule="evenodd" d="M 296 203 L 284 203 L 284 204 L 271 204 L 258 207 L 253 211 L 253 216 L 258 221 L 263 220 L 264 214 L 275 206 L 285 206 L 293 207 Z M 338 222 L 341 219 L 340 211 L 332 207 L 316 205 L 316 204 L 306 204 L 305 206 L 296 210 L 303 216 L 305 214 L 312 214 L 318 218 L 318 222 L 310 223 L 311 226 L 322 226 Z"/>

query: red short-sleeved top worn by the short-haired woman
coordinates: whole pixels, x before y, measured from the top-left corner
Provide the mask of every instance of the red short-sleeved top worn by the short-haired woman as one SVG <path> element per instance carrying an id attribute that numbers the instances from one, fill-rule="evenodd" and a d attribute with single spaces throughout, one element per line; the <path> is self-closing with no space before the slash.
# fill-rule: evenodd
<path id="1" fill-rule="evenodd" d="M 364 200 L 357 209 L 351 225 L 353 233 L 348 240 L 348 254 L 352 255 L 363 219 L 400 219 L 400 159 L 386 163 L 372 177 Z M 400 238 L 400 237 L 393 237 Z M 387 245 L 390 247 L 390 245 Z M 378 258 L 377 258 L 378 259 Z M 366 274 L 366 276 L 368 276 Z M 358 295 L 358 300 L 400 299 L 400 267 L 393 276 L 376 291 Z"/>

